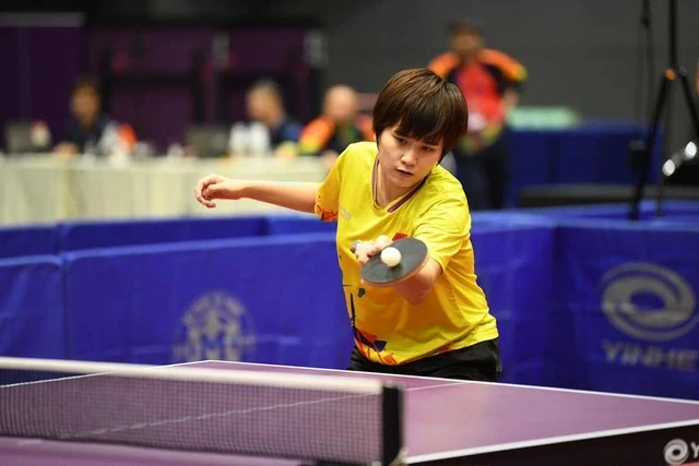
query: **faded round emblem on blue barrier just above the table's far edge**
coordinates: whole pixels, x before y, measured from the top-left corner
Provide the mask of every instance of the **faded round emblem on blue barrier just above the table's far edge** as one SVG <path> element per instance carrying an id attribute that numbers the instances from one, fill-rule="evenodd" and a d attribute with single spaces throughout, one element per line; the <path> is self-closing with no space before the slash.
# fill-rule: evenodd
<path id="1" fill-rule="evenodd" d="M 233 296 L 212 291 L 183 313 L 173 346 L 173 361 L 251 360 L 256 348 L 250 314 Z"/>

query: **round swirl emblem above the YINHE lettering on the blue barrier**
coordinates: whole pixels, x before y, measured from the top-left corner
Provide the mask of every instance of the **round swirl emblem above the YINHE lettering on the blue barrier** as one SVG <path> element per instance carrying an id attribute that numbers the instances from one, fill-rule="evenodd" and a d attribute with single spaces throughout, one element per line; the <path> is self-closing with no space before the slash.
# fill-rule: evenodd
<path id="1" fill-rule="evenodd" d="M 609 322 L 627 335 L 659 342 L 677 338 L 699 323 L 695 294 L 677 273 L 657 264 L 624 264 L 602 277 L 602 309 Z M 642 296 L 662 301 L 640 309 Z"/>

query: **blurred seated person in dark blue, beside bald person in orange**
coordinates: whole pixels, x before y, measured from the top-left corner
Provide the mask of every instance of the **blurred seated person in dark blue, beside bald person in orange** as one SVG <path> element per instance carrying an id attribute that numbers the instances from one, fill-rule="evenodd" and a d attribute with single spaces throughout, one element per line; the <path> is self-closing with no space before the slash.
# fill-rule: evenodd
<path id="1" fill-rule="evenodd" d="M 286 112 L 282 93 L 273 81 L 254 83 L 246 95 L 246 106 L 248 118 L 268 129 L 270 148 L 274 154 L 296 155 L 303 126 Z"/>

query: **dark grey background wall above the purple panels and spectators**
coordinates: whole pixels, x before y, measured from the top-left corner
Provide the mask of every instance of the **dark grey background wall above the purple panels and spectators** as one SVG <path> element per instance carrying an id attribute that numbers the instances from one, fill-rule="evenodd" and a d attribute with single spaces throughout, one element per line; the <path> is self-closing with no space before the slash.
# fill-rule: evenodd
<path id="1" fill-rule="evenodd" d="M 46 10 L 21 2 L 8 10 Z M 419 67 L 447 46 L 450 20 L 478 17 L 489 46 L 520 59 L 530 81 L 523 105 L 567 106 L 584 117 L 638 119 L 668 60 L 668 1 L 649 1 L 653 70 L 639 61 L 648 50 L 641 28 L 643 0 L 144 0 L 52 2 L 52 11 L 80 10 L 86 17 L 153 20 L 311 21 L 327 38 L 322 85 L 345 82 L 376 92 L 395 71 Z M 696 95 L 699 1 L 678 0 L 678 58 Z M 639 56 L 643 53 L 643 56 Z M 676 87 L 679 91 L 679 87 Z M 689 118 L 675 93 L 673 133 L 684 139 Z M 647 117 L 641 117 L 645 120 Z M 675 138 L 671 138 L 675 139 Z"/>

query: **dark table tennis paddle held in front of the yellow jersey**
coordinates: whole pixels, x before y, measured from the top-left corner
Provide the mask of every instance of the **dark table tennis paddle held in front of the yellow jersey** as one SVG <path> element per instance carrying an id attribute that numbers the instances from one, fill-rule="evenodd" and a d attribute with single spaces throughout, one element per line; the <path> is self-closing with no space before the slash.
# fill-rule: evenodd
<path id="1" fill-rule="evenodd" d="M 398 265 L 389 266 L 381 254 L 374 255 L 362 266 L 362 278 L 372 286 L 391 286 L 410 278 L 427 262 L 427 246 L 415 238 L 401 238 L 387 248 L 395 248 L 401 254 Z"/>

